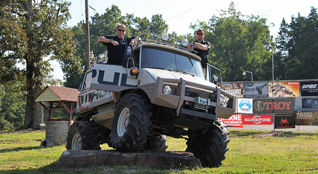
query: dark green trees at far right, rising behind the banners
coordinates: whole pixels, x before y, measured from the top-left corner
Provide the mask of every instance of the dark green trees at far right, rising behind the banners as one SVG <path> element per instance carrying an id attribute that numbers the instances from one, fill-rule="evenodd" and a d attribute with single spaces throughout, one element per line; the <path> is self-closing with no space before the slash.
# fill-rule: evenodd
<path id="1" fill-rule="evenodd" d="M 318 14 L 312 7 L 307 17 L 292 16 L 290 24 L 282 20 L 276 38 L 280 64 L 283 71 L 280 79 L 317 79 L 318 65 Z"/>

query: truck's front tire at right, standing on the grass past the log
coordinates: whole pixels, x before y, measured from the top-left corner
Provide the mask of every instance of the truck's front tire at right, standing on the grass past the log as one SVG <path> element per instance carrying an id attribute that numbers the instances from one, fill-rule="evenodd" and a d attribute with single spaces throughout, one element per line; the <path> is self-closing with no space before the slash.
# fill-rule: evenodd
<path id="1" fill-rule="evenodd" d="M 215 121 L 205 135 L 189 137 L 186 151 L 193 153 L 203 167 L 218 168 L 229 150 L 229 131 L 222 121 Z"/>

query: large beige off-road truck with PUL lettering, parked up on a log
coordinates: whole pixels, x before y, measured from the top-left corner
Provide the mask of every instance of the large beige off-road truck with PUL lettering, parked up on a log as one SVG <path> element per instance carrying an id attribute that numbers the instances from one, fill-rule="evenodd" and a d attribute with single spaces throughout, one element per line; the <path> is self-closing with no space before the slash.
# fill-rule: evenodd
<path id="1" fill-rule="evenodd" d="M 218 118 L 234 113 L 236 96 L 211 83 L 210 66 L 204 76 L 201 58 L 183 46 L 187 40 L 139 36 L 134 47 L 118 45 L 125 47 L 122 65 L 94 59 L 80 87 L 80 116 L 68 132 L 67 149 L 99 150 L 107 143 L 124 152 L 165 151 L 170 136 L 186 139 L 186 151 L 202 166 L 221 166 L 230 140 Z M 111 91 L 121 94 L 115 106 Z"/>

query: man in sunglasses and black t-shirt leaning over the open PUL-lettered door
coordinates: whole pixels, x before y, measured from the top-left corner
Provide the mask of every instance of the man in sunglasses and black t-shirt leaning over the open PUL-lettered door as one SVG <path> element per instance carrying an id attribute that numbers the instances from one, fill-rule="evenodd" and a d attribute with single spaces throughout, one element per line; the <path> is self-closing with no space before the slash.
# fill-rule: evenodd
<path id="1" fill-rule="evenodd" d="M 125 45 L 130 44 L 133 45 L 138 41 L 138 37 L 127 37 L 126 34 L 126 26 L 122 23 L 117 23 L 116 29 L 117 35 L 115 36 L 100 36 L 97 39 L 97 42 L 101 42 L 102 44 L 107 46 L 107 63 L 108 64 L 122 64 L 123 58 L 125 55 Z M 117 102 L 119 101 L 121 96 L 121 92 L 113 92 L 114 97 L 114 108 L 116 107 Z"/>

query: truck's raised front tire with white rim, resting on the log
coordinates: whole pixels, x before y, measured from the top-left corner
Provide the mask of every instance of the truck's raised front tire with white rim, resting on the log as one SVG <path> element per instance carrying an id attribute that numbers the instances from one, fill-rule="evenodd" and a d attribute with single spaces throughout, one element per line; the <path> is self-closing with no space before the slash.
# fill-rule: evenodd
<path id="1" fill-rule="evenodd" d="M 148 98 L 127 93 L 119 101 L 111 126 L 111 147 L 124 152 L 143 148 L 150 133 L 151 102 Z"/>

